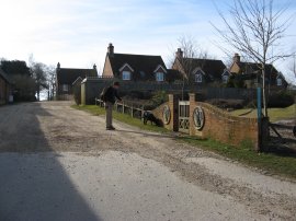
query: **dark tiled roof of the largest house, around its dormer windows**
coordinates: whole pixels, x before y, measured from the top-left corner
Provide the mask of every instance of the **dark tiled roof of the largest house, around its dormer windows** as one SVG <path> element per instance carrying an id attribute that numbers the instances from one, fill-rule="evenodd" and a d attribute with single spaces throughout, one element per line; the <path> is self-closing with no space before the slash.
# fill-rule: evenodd
<path id="1" fill-rule="evenodd" d="M 135 80 L 155 80 L 156 68 L 161 65 L 166 69 L 160 56 L 113 54 L 109 55 L 109 59 L 115 77 L 118 77 L 119 69 L 126 63 L 134 70 L 133 79 Z"/>

